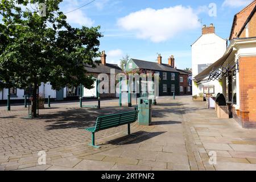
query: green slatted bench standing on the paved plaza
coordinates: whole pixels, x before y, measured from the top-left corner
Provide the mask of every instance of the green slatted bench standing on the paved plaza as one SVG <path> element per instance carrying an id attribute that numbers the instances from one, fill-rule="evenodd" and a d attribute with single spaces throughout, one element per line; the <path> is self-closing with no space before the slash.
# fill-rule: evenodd
<path id="1" fill-rule="evenodd" d="M 137 121 L 138 113 L 139 111 L 135 110 L 125 113 L 109 114 L 98 117 L 96 120 L 96 125 L 94 127 L 88 127 L 87 129 L 85 129 L 86 131 L 92 133 L 92 143 L 89 145 L 95 148 L 100 148 L 100 146 L 95 145 L 94 134 L 97 131 L 110 129 L 112 127 L 128 125 L 128 135 L 130 135 L 130 123 Z"/>

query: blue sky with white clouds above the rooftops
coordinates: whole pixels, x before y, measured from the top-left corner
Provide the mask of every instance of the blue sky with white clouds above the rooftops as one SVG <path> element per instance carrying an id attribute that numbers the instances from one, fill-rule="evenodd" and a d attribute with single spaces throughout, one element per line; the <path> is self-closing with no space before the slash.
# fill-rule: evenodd
<path id="1" fill-rule="evenodd" d="M 60 10 L 75 10 L 92 0 L 64 0 Z M 216 34 L 229 37 L 234 14 L 252 0 L 96 0 L 68 13 L 74 27 L 101 26 L 100 50 L 107 63 L 130 58 L 163 63 L 175 56 L 177 68 L 191 68 L 191 44 L 201 35 L 203 24 L 213 23 Z M 216 11 L 214 11 L 216 6 Z"/>

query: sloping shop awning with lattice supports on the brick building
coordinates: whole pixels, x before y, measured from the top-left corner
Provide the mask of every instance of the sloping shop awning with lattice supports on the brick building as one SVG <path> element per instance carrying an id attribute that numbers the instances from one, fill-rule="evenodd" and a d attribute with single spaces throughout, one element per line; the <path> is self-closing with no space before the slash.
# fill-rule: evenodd
<path id="1" fill-rule="evenodd" d="M 224 64 L 226 59 L 228 59 L 230 53 L 232 53 L 232 50 L 230 50 L 228 53 L 226 53 L 224 56 L 222 56 L 215 63 L 210 65 L 208 68 L 206 68 L 203 72 L 201 72 L 197 76 L 195 76 L 194 77 L 195 81 L 202 82 L 202 81 L 216 80 L 221 75 L 225 74 L 222 71 L 218 71 L 218 69 L 221 68 L 221 66 Z M 209 76 L 209 78 L 207 78 L 208 76 Z"/>

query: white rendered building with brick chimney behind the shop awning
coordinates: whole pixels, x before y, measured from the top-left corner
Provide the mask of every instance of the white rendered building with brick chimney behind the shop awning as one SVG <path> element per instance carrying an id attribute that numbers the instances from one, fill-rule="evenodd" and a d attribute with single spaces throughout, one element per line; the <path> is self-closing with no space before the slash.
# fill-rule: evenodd
<path id="1" fill-rule="evenodd" d="M 203 26 L 202 35 L 195 43 L 192 44 L 192 78 L 204 71 L 205 68 L 220 59 L 226 51 L 227 42 L 215 34 L 215 27 L 210 24 L 209 27 Z M 207 77 L 206 77 L 207 78 Z M 196 85 L 192 81 L 192 95 L 207 93 L 216 96 L 217 93 L 222 93 L 222 86 L 218 80 L 205 82 Z"/>

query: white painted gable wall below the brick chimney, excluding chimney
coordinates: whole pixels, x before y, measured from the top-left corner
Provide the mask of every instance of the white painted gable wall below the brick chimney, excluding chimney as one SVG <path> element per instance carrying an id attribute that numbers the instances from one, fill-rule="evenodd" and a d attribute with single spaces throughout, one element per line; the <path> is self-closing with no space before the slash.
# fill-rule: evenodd
<path id="1" fill-rule="evenodd" d="M 220 38 L 216 34 L 202 35 L 192 46 L 192 77 L 199 74 L 199 64 L 213 64 L 220 59 L 226 51 L 226 40 Z M 204 85 L 214 85 L 215 95 L 222 93 L 222 87 L 220 83 L 216 81 L 210 81 L 205 84 L 200 84 L 198 88 L 192 81 L 192 94 L 198 95 L 203 93 Z"/>

